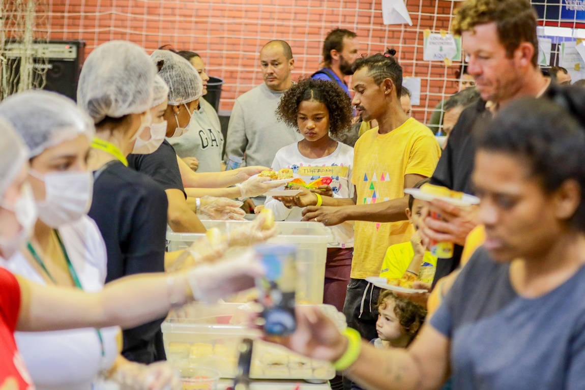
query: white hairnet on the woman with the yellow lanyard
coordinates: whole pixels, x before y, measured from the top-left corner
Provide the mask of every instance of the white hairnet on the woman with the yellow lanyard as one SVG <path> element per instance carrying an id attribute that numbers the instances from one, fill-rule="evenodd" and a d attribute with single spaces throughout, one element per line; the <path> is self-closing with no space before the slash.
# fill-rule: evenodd
<path id="1" fill-rule="evenodd" d="M 101 44 L 85 60 L 77 103 L 94 123 L 150 109 L 156 68 L 142 47 L 114 40 Z"/>

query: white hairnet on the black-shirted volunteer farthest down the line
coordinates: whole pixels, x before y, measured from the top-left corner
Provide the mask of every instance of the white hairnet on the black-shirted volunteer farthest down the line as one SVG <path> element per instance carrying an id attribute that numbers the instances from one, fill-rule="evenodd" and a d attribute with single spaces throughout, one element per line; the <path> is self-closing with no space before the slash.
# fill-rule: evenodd
<path id="1" fill-rule="evenodd" d="M 178 106 L 203 96 L 203 81 L 185 58 L 169 50 L 154 50 L 150 58 L 168 85 L 168 104 Z"/>

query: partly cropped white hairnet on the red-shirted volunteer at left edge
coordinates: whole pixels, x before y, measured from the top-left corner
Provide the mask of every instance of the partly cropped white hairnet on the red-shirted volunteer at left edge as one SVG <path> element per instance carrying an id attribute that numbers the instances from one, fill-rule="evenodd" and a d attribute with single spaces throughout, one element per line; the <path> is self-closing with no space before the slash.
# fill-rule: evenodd
<path id="1" fill-rule="evenodd" d="M 8 120 L 0 118 L 0 201 L 28 160 L 29 151 Z"/>

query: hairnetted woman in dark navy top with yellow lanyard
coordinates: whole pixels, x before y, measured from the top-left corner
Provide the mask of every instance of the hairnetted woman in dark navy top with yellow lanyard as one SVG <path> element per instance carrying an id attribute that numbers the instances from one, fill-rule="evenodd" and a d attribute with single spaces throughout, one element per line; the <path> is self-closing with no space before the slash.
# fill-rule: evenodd
<path id="1" fill-rule="evenodd" d="M 135 147 L 143 149 L 136 140 L 149 130 L 155 75 L 144 50 L 122 41 L 92 51 L 80 74 L 77 102 L 96 130 L 88 158 L 95 180 L 88 215 L 106 244 L 106 282 L 164 271 L 166 194 L 151 178 L 128 168 L 126 160 Z M 139 363 L 164 359 L 156 342 L 162 321 L 124 330 L 123 356 Z"/>

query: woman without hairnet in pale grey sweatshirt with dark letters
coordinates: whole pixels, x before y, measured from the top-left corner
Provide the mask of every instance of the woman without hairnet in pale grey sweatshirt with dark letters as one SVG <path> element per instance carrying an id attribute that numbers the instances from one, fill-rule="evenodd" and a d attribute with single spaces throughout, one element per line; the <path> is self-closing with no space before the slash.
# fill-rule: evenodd
<path id="1" fill-rule="evenodd" d="M 205 96 L 209 76 L 205 71 L 203 60 L 194 51 L 181 50 L 177 51 L 177 54 L 189 61 L 197 70 L 203 81 L 203 96 Z M 193 112 L 189 126 L 189 132 L 183 137 L 169 140 L 177 151 L 177 155 L 183 158 L 183 161 L 194 171 L 223 171 L 225 169 L 222 167 L 223 134 L 214 106 L 205 99 L 199 99 L 199 107 Z"/>

